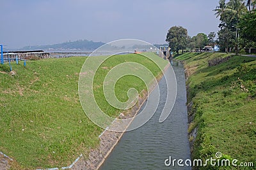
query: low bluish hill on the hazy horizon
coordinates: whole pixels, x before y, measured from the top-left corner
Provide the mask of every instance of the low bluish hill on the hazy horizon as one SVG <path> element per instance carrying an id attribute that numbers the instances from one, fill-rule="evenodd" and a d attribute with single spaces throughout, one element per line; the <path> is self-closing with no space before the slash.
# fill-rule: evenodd
<path id="1" fill-rule="evenodd" d="M 59 43 L 55 45 L 36 45 L 36 46 L 24 46 L 20 50 L 88 50 L 92 51 L 98 48 L 99 46 L 104 45 L 102 42 L 93 42 L 84 40 L 77 41 L 68 41 L 65 43 Z"/>

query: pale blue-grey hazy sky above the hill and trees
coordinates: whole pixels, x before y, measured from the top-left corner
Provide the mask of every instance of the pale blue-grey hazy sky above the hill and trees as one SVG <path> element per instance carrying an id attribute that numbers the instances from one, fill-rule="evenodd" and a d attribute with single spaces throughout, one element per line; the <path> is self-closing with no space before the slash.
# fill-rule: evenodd
<path id="1" fill-rule="evenodd" d="M 9 49 L 77 39 L 165 43 L 174 25 L 188 29 L 190 36 L 219 30 L 212 11 L 218 0 L 0 1 L 0 43 Z"/>

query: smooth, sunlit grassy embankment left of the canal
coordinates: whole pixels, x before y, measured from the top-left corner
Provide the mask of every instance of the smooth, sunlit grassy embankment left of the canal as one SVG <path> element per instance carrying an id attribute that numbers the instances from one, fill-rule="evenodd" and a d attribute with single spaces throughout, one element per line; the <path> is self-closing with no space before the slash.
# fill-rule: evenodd
<path id="1" fill-rule="evenodd" d="M 151 55 L 166 66 L 167 61 Z M 99 145 L 103 131 L 84 114 L 77 85 L 85 57 L 31 60 L 24 67 L 0 64 L 0 151 L 14 161 L 13 169 L 36 169 L 70 165 L 81 153 Z M 106 60 L 95 77 L 95 98 L 100 108 L 116 117 L 119 110 L 104 99 L 102 82 L 111 67 L 132 61 L 157 76 L 160 69 L 138 54 L 116 55 Z M 116 96 L 125 101 L 127 89 L 141 92 L 145 84 L 135 76 L 124 76 L 116 83 Z M 125 94 L 125 95 L 124 95 Z"/>

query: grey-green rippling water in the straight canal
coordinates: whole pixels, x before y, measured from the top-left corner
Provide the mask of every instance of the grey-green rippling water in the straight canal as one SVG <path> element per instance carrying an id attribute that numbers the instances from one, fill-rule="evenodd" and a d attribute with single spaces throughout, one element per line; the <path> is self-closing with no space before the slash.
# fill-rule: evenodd
<path id="1" fill-rule="evenodd" d="M 100 169 L 191 169 L 178 167 L 177 162 L 174 167 L 164 164 L 170 156 L 177 160 L 190 159 L 184 69 L 181 64 L 173 65 L 177 99 L 172 113 L 163 123 L 159 123 L 167 95 L 163 78 L 159 81 L 161 95 L 154 116 L 142 127 L 125 132 Z"/>

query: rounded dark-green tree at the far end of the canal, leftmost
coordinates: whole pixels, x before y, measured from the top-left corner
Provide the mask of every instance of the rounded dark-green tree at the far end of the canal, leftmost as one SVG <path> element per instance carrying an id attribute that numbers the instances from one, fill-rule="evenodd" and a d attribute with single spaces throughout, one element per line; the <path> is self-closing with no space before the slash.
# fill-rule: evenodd
<path id="1" fill-rule="evenodd" d="M 169 47 L 172 51 L 179 54 L 179 50 L 186 48 L 188 43 L 188 31 L 181 26 L 174 26 L 169 29 L 166 35 L 166 41 L 169 43 Z"/>

